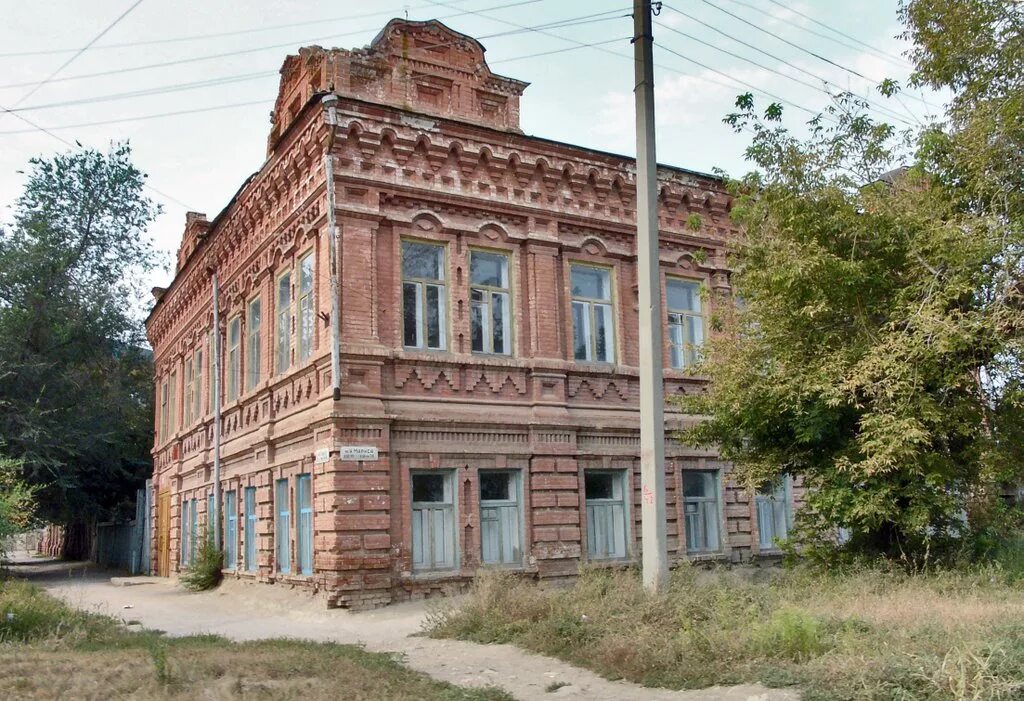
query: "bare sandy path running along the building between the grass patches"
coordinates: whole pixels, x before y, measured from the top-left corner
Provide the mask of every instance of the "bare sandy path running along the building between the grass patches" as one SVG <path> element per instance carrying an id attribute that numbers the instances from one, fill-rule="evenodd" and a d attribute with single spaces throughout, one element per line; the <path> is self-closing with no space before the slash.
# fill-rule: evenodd
<path id="1" fill-rule="evenodd" d="M 171 636 L 216 633 L 237 641 L 300 638 L 362 644 L 393 652 L 417 670 L 443 682 L 497 686 L 521 701 L 794 701 L 792 690 L 740 686 L 700 691 L 646 689 L 609 682 L 586 669 L 509 645 L 477 645 L 422 637 L 436 603 L 409 603 L 352 613 L 327 609 L 302 592 L 226 581 L 214 592 L 191 594 L 160 577 L 113 577 L 81 563 L 15 558 L 10 568 L 68 604 L 113 615 Z M 553 683 L 563 686 L 547 692 Z"/>

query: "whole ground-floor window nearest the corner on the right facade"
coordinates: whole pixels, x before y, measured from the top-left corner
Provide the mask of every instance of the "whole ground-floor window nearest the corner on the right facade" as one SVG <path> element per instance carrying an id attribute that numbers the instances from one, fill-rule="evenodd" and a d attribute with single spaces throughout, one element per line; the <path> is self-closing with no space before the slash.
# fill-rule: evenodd
<path id="1" fill-rule="evenodd" d="M 456 566 L 454 480 L 450 472 L 413 473 L 413 569 Z"/>

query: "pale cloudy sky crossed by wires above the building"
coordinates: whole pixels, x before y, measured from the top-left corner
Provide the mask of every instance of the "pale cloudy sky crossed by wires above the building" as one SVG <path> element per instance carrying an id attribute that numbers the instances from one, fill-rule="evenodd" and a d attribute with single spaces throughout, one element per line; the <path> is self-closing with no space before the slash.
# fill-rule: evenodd
<path id="1" fill-rule="evenodd" d="M 153 284 L 170 281 L 185 212 L 213 218 L 262 165 L 285 56 L 310 44 L 365 46 L 394 16 L 440 19 L 479 39 L 493 71 L 529 82 L 526 134 L 635 152 L 629 0 L 135 3 L 0 0 L 0 223 L 11 219 L 29 159 L 68 150 L 54 135 L 97 148 L 128 140 L 164 209 L 150 233 L 168 267 Z M 873 90 L 884 78 L 905 84 L 911 70 L 897 9 L 897 0 L 664 3 L 654 26 L 658 162 L 749 170 L 749 134 L 722 123 L 748 91 L 762 106 L 785 100 L 797 130 L 827 104 L 826 90 L 869 96 L 898 127 L 940 114 L 941 95 L 892 100 Z"/>

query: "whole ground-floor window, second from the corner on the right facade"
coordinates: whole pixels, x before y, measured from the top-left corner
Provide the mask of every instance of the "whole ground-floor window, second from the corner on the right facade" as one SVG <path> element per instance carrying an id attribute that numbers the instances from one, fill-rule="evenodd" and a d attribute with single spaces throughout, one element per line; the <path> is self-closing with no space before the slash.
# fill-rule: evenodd
<path id="1" fill-rule="evenodd" d="M 480 471 L 480 555 L 484 565 L 522 564 L 519 473 Z"/>

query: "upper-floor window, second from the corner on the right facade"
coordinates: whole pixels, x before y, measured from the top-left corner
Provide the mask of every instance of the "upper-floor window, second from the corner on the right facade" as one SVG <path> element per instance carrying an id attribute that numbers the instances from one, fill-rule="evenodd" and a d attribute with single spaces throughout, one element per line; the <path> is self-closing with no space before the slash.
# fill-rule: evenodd
<path id="1" fill-rule="evenodd" d="M 512 352 L 509 307 L 509 257 L 501 253 L 469 254 L 470 322 L 474 353 Z"/>

